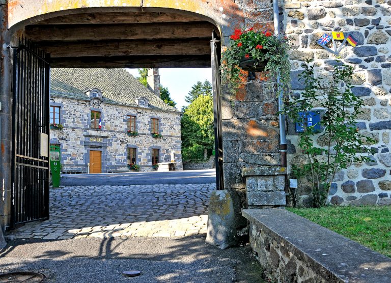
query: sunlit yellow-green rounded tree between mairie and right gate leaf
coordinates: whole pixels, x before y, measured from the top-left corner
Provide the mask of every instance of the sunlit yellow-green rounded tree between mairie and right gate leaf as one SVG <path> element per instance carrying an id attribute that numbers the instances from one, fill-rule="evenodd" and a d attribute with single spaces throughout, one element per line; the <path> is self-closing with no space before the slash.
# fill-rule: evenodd
<path id="1" fill-rule="evenodd" d="M 181 119 L 181 138 L 185 151 L 197 146 L 213 148 L 213 99 L 210 95 L 200 95 L 186 108 Z"/>

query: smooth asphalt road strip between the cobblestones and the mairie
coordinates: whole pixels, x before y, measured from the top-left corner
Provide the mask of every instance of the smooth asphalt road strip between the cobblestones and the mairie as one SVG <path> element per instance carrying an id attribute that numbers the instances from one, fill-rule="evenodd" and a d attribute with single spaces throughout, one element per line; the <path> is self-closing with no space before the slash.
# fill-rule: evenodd
<path id="1" fill-rule="evenodd" d="M 104 174 L 65 174 L 61 178 L 62 186 L 82 185 L 185 185 L 216 183 L 215 169 L 170 171 L 170 172 L 131 172 Z"/>

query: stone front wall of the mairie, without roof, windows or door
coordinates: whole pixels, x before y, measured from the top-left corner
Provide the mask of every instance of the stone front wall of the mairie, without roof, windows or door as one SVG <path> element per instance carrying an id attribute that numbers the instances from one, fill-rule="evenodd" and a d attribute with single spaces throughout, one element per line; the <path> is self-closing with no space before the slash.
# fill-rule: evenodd
<path id="1" fill-rule="evenodd" d="M 102 172 L 129 172 L 127 168 L 126 147 L 136 148 L 136 163 L 140 171 L 152 171 L 151 149 L 160 149 L 160 162 L 171 161 L 171 151 L 175 152 L 176 168 L 182 170 L 180 113 L 149 109 L 147 107 L 130 107 L 102 103 L 100 106 L 102 129 L 90 129 L 90 111 L 88 104 L 78 103 L 74 99 L 54 97 L 55 103 L 61 106 L 60 122 L 62 131 L 51 130 L 51 143 L 61 144 L 61 163 L 65 173 L 87 173 L 90 162 L 89 151 L 102 151 Z M 87 102 L 88 103 L 88 102 Z M 137 136 L 128 136 L 127 115 L 137 117 Z M 159 131 L 162 137 L 151 135 L 151 118 L 159 118 Z M 58 139 L 66 136 L 67 141 Z M 91 140 L 101 137 L 102 141 Z M 127 140 L 121 145 L 120 140 Z"/>

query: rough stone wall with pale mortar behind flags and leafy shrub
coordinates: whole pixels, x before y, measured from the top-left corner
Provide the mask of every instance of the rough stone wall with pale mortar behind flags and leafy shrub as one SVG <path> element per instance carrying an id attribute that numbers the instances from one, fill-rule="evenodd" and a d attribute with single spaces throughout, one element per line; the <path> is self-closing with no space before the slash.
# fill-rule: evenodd
<path id="1" fill-rule="evenodd" d="M 285 33 L 293 44 L 292 87 L 300 92 L 297 82 L 300 64 L 310 59 L 317 75 L 328 76 L 336 58 L 316 44 L 323 33 L 350 32 L 357 40 L 355 48 L 348 46 L 341 53 L 342 62 L 354 68 L 353 93 L 364 100 L 364 113 L 358 128 L 376 140 L 375 154 L 367 164 L 352 165 L 338 174 L 330 191 L 332 204 L 391 204 L 391 1 L 297 1 L 286 0 Z M 297 145 L 294 125 L 288 125 L 293 145 Z M 288 164 L 300 160 L 291 147 Z M 303 159 L 303 158 L 301 158 Z M 309 201 L 311 189 L 304 183 L 298 188 L 301 201 Z"/>

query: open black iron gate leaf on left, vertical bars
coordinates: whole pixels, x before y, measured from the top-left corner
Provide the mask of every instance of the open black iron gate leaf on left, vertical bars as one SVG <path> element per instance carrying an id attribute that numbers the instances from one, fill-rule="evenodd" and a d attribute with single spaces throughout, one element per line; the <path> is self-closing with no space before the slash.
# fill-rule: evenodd
<path id="1" fill-rule="evenodd" d="M 49 54 L 14 48 L 11 227 L 49 217 Z"/>

